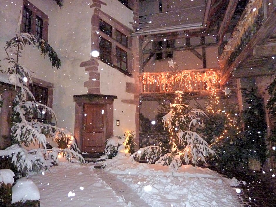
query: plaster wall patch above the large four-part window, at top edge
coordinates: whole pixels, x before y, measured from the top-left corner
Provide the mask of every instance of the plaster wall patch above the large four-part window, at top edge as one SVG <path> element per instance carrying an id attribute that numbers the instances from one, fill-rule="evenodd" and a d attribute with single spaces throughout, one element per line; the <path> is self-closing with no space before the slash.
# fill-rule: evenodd
<path id="1" fill-rule="evenodd" d="M 102 0 L 102 2 L 106 3 L 107 6 L 102 4 L 101 11 L 105 12 L 123 25 L 133 30 L 132 24 L 130 24 L 129 22 L 134 22 L 134 15 L 130 9 L 127 9 L 127 7 L 121 4 L 119 1 Z"/>

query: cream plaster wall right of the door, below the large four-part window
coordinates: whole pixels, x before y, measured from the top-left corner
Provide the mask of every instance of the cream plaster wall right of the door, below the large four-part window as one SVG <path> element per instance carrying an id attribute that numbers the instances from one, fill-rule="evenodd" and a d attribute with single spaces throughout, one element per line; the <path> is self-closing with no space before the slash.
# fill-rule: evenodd
<path id="1" fill-rule="evenodd" d="M 114 136 L 121 136 L 125 132 L 135 130 L 135 110 L 134 104 L 123 103 L 123 99 L 133 100 L 134 95 L 126 92 L 126 82 L 134 83 L 134 78 L 124 75 L 115 68 L 105 63 L 99 62 L 100 88 L 101 94 L 116 95 L 114 100 Z M 120 120 L 120 126 L 116 126 L 115 121 Z M 135 132 L 134 132 L 135 133 Z"/>

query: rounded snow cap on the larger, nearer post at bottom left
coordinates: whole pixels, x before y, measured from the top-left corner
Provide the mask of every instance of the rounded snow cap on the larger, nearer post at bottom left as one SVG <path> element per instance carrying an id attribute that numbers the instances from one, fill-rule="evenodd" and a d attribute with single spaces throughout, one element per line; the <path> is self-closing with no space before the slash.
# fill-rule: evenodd
<path id="1" fill-rule="evenodd" d="M 27 200 L 40 200 L 40 193 L 36 184 L 26 177 L 18 179 L 12 187 L 11 203 Z"/>

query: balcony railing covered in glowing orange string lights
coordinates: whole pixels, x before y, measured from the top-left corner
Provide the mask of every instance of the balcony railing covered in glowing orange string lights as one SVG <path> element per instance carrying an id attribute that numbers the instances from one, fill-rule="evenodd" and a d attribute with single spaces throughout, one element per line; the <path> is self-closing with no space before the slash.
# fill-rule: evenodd
<path id="1" fill-rule="evenodd" d="M 140 93 L 171 93 L 218 88 L 218 68 L 174 72 L 140 73 Z"/>

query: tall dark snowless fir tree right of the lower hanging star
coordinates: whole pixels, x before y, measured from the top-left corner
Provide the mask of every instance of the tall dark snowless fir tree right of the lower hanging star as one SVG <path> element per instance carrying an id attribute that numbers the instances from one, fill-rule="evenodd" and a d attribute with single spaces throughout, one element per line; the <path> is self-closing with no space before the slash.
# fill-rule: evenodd
<path id="1" fill-rule="evenodd" d="M 243 90 L 243 97 L 248 107 L 243 111 L 243 155 L 257 159 L 261 164 L 266 160 L 265 134 L 267 124 L 262 98 L 256 95 L 256 89 Z"/>

